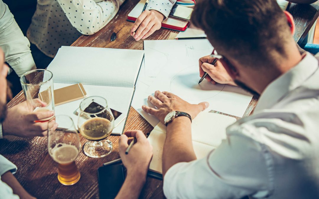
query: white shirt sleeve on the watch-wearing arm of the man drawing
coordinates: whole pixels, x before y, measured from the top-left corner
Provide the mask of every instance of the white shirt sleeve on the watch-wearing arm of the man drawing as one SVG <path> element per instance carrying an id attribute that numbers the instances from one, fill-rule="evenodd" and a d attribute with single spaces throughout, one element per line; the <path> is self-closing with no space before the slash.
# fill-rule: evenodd
<path id="1" fill-rule="evenodd" d="M 164 176 L 170 198 L 241 198 L 269 194 L 269 166 L 256 141 L 229 136 L 204 159 L 181 162 Z"/>

